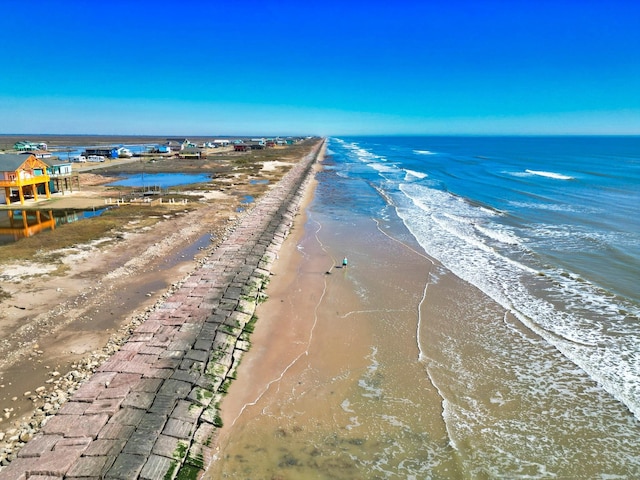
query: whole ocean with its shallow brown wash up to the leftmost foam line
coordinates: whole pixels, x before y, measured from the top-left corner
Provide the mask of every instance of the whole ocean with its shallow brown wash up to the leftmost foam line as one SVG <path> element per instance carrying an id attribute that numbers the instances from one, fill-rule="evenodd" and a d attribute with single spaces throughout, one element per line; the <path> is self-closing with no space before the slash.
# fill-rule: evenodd
<path id="1" fill-rule="evenodd" d="M 317 179 L 308 360 L 220 478 L 640 477 L 639 137 L 330 138 Z"/>

